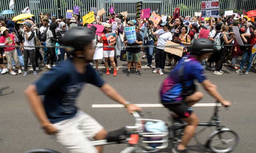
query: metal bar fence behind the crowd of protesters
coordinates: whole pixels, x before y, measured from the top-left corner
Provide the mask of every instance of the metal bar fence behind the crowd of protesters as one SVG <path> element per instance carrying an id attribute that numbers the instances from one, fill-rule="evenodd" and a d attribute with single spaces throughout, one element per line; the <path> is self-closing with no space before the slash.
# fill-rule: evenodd
<path id="1" fill-rule="evenodd" d="M 97 7 L 98 10 L 108 9 L 113 5 L 115 13 L 128 12 L 129 18 L 133 19 L 136 15 L 136 2 L 142 1 L 143 8 L 159 8 L 160 15 L 172 15 L 175 7 L 181 8 L 182 16 L 193 16 L 195 12 L 200 12 L 201 1 L 208 0 L 60 0 L 60 14 L 66 16 L 67 10 L 73 10 L 74 5 L 80 6 L 80 15 L 83 16 L 90 11 L 90 7 Z M 0 11 L 9 10 L 10 0 L 0 0 Z M 39 19 L 40 11 L 55 14 L 58 18 L 58 0 L 14 0 L 15 14 L 4 15 L 11 18 L 19 15 L 21 11 L 29 6 L 30 12 Z M 219 10 L 234 10 L 242 13 L 245 11 L 256 10 L 256 0 L 219 0 Z"/>

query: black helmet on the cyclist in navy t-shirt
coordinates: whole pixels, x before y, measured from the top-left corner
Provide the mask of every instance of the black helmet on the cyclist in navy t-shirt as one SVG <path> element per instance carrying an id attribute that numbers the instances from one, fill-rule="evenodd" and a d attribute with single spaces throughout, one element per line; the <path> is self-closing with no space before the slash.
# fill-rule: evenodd
<path id="1" fill-rule="evenodd" d="M 91 43 L 95 38 L 95 32 L 84 26 L 70 29 L 63 38 L 64 45 L 74 48 L 74 50 L 83 50 L 84 46 Z M 73 51 L 74 51 L 73 50 Z M 72 53 L 70 49 L 67 52 Z"/>

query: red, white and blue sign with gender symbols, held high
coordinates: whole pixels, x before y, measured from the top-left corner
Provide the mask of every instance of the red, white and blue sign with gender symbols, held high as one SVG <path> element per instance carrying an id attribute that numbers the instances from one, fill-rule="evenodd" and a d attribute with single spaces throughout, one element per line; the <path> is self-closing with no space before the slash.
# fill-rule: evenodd
<path id="1" fill-rule="evenodd" d="M 219 1 L 211 0 L 211 1 L 202 1 L 201 2 L 201 13 L 203 17 L 219 17 Z"/>

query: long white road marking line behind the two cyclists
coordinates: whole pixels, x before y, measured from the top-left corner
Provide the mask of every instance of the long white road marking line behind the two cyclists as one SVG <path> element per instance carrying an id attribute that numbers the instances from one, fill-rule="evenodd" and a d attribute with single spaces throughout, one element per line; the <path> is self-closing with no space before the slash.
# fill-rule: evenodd
<path id="1" fill-rule="evenodd" d="M 135 104 L 139 107 L 163 107 L 162 104 Z M 198 103 L 193 105 L 193 107 L 207 107 L 207 106 L 216 106 L 216 103 Z M 221 106 L 221 104 L 218 104 Z M 124 107 L 122 104 L 93 104 L 93 108 L 111 108 L 111 107 Z"/>

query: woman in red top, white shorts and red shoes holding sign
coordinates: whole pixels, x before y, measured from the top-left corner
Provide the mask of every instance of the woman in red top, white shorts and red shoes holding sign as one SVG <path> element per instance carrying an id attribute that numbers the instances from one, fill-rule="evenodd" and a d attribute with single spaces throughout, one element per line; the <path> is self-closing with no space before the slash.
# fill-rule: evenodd
<path id="1" fill-rule="evenodd" d="M 104 47 L 104 46 L 114 46 L 116 44 L 116 36 L 117 36 L 117 31 L 115 31 L 115 36 L 109 35 L 111 34 L 111 26 L 109 23 L 104 24 L 104 31 L 102 35 L 100 36 L 100 43 L 103 43 L 103 57 L 105 59 L 105 68 L 106 68 L 106 74 L 109 75 L 109 64 L 108 60 L 110 60 L 113 69 L 114 69 L 114 74 L 113 76 L 117 75 L 116 72 L 116 64 L 114 61 L 114 56 L 115 56 L 115 49 L 114 47 Z M 109 36 L 107 36 L 109 35 Z"/>

